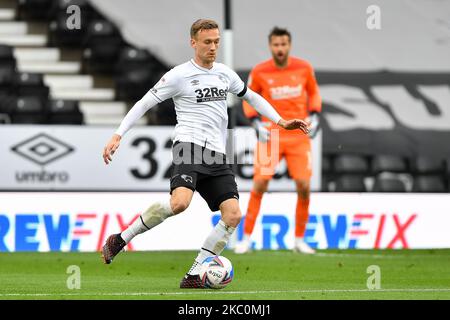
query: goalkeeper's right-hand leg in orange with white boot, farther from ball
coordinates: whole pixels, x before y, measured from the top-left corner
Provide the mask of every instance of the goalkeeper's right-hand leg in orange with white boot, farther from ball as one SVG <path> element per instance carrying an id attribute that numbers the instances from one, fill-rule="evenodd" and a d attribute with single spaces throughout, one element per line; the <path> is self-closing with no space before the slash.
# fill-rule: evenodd
<path id="1" fill-rule="evenodd" d="M 309 139 L 292 144 L 286 151 L 286 163 L 289 174 L 294 179 L 297 189 L 297 207 L 295 210 L 295 245 L 294 251 L 315 253 L 305 241 L 305 229 L 309 217 L 310 178 L 312 174 L 311 146 Z"/>

